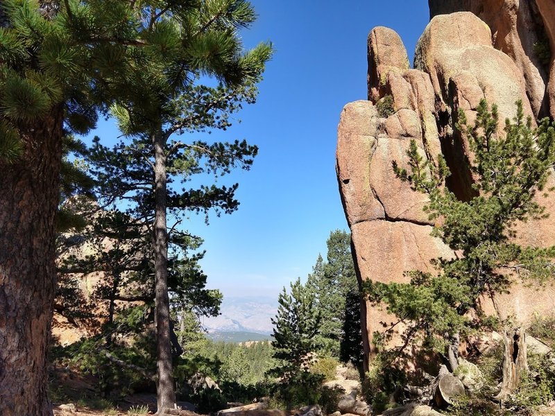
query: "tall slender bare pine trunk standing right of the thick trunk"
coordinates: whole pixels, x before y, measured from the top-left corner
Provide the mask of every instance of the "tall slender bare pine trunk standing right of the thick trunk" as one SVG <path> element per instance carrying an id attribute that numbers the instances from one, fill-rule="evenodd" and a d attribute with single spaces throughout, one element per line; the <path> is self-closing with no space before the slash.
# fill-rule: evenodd
<path id="1" fill-rule="evenodd" d="M 168 230 L 166 220 L 167 174 L 165 139 L 161 133 L 154 135 L 154 180 L 155 180 L 155 219 L 153 229 L 155 306 L 156 306 L 156 388 L 158 413 L 164 408 L 174 408 L 176 392 L 171 375 L 171 338 L 169 327 L 168 295 Z"/>

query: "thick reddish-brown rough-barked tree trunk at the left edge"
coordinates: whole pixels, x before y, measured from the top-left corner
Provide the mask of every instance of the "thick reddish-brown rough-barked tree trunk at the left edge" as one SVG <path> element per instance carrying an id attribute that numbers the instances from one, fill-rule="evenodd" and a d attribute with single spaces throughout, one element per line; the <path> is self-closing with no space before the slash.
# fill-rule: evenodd
<path id="1" fill-rule="evenodd" d="M 22 131 L 25 152 L 0 160 L 0 415 L 51 415 L 46 353 L 54 291 L 62 107 Z"/>

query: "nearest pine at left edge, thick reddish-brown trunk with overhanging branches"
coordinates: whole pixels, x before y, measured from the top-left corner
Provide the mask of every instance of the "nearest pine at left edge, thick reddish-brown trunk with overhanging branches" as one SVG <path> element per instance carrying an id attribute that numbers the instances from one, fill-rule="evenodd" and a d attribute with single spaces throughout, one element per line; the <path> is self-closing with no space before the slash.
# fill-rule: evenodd
<path id="1" fill-rule="evenodd" d="M 205 19 L 182 26 L 189 17 Z M 248 69 L 258 63 L 255 57 L 227 54 L 237 42 L 209 30 L 253 18 L 248 3 L 233 1 L 1 4 L 0 305 L 8 318 L 0 331 L 0 361 L 7 363 L 0 376 L 0 413 L 51 414 L 45 358 L 56 281 L 62 137 L 87 132 L 115 98 L 157 98 L 139 96 L 142 71 L 153 74 L 150 65 L 180 85 L 190 79 L 189 68 L 216 68 L 225 80 L 253 75 Z M 182 48 L 181 35 L 191 40 L 190 48 Z M 151 59 L 156 54 L 160 60 Z M 178 64 L 164 67 L 170 61 Z M 163 96 L 162 78 L 144 81 L 162 81 Z"/>

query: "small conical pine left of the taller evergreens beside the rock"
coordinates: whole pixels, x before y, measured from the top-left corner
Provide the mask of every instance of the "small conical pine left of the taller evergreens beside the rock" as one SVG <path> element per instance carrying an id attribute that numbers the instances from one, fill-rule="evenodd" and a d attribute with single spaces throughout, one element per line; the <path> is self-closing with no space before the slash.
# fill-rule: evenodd
<path id="1" fill-rule="evenodd" d="M 321 315 L 314 307 L 313 293 L 300 279 L 291 283 L 290 293 L 283 288 L 278 303 L 278 315 L 272 319 L 272 346 L 273 357 L 280 364 L 273 373 L 289 379 L 308 371 L 310 354 L 316 351 L 314 337 L 318 335 Z"/>

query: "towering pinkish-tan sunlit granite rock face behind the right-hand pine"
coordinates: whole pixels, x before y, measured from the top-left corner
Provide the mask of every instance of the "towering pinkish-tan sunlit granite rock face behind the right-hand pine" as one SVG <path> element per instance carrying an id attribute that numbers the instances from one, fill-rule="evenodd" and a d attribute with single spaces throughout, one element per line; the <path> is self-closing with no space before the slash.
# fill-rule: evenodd
<path id="1" fill-rule="evenodd" d="M 393 173 L 394 160 L 408 167 L 411 139 L 432 163 L 443 154 L 452 171 L 447 187 L 468 200 L 474 192 L 468 169 L 472 155 L 454 128 L 459 109 L 472 121 L 482 98 L 497 103 L 502 119 L 515 115 L 518 99 L 533 118 L 542 114 L 545 105 L 549 108 L 544 98 L 549 94 L 545 71 L 536 65 L 536 58 L 524 62 L 520 55 L 526 55 L 529 49 L 524 46 L 536 38 L 531 31 L 520 33 L 519 19 L 522 13 L 532 18 L 537 10 L 528 4 L 521 10 L 518 1 L 493 1 L 508 16 L 492 17 L 489 22 L 478 17 L 486 9 L 475 3 L 487 2 L 430 0 L 432 15 L 437 16 L 418 41 L 415 69 L 409 69 L 407 51 L 397 33 L 380 26 L 368 35 L 368 101 L 343 108 L 336 154 L 339 190 L 361 281 L 405 282 L 409 279 L 405 271 L 432 271 L 431 259 L 453 255 L 429 235 L 434 224 L 422 211 L 427 198 Z M 513 8 L 509 3 L 514 3 Z M 471 9 L 474 12 L 460 11 Z M 540 202 L 552 215 L 520 225 L 522 243 L 555 243 L 555 201 Z M 526 322 L 538 309 L 554 309 L 555 290 L 517 286 L 497 302 L 503 315 L 514 314 Z M 493 312 L 490 301 L 484 304 L 486 311 Z M 373 354 L 373 333 L 383 331 L 382 322 L 393 322 L 394 317 L 368 303 L 363 304 L 362 317 L 368 357 Z"/>

